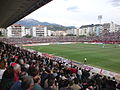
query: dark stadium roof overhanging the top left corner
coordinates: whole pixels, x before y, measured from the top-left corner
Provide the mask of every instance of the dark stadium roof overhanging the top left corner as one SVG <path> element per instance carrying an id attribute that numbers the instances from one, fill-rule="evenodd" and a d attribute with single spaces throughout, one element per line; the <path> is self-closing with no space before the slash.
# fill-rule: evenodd
<path id="1" fill-rule="evenodd" d="M 52 0 L 0 0 L 0 28 L 7 28 Z"/>

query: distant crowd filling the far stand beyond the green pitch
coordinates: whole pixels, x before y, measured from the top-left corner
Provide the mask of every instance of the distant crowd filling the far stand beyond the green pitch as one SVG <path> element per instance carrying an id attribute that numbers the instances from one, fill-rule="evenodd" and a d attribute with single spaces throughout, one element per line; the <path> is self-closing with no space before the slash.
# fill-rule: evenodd
<path id="1" fill-rule="evenodd" d="M 9 44 L 54 43 L 54 42 L 101 42 L 120 44 L 120 32 L 105 33 L 100 36 L 52 36 L 32 38 L 0 38 Z"/>

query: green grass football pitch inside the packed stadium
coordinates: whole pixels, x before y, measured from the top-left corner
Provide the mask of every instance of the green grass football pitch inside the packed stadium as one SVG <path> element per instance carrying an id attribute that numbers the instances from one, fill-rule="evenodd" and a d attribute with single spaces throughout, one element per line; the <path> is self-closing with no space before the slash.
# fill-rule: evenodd
<path id="1" fill-rule="evenodd" d="M 87 58 L 87 64 L 120 73 L 120 46 L 111 44 L 53 44 L 27 46 L 39 52 L 61 56 L 80 63 Z"/>

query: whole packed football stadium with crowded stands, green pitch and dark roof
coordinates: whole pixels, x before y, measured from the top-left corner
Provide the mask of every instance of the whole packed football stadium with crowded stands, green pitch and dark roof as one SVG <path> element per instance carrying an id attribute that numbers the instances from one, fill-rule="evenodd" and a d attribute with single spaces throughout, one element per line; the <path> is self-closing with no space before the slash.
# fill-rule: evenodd
<path id="1" fill-rule="evenodd" d="M 29 2 L 34 2 L 32 8 L 16 14 L 17 19 L 1 20 L 0 27 L 51 0 L 38 1 Z M 0 37 L 0 90 L 120 90 L 119 55 L 120 31 L 82 37 Z"/>

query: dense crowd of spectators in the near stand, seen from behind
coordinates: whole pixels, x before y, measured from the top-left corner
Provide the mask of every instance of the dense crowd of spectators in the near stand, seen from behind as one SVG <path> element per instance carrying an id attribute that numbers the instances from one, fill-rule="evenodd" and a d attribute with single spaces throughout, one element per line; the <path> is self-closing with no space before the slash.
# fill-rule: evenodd
<path id="1" fill-rule="evenodd" d="M 0 90 L 120 90 L 120 82 L 0 42 Z"/>

